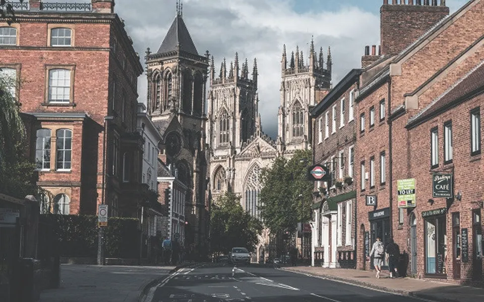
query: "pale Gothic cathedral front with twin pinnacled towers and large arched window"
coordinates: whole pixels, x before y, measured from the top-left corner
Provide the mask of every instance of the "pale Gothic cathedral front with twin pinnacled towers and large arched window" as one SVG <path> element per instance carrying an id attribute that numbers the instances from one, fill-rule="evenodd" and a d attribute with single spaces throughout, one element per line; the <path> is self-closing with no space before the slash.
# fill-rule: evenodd
<path id="1" fill-rule="evenodd" d="M 304 59 L 298 47 L 288 59 L 284 46 L 278 136 L 273 140 L 262 131 L 256 59 L 250 75 L 247 59 L 240 64 L 237 53 L 230 64 L 224 59 L 217 73 L 212 57 L 206 131 L 208 185 L 214 200 L 231 190 L 241 197 L 246 211 L 260 218 L 261 169 L 270 167 L 278 156 L 290 158 L 297 149 L 311 148 L 309 111 L 330 90 L 331 53 L 328 50 L 325 66 L 323 50 L 318 55 L 312 41 L 309 60 Z M 270 250 L 265 230 L 254 260 L 266 258 Z"/>

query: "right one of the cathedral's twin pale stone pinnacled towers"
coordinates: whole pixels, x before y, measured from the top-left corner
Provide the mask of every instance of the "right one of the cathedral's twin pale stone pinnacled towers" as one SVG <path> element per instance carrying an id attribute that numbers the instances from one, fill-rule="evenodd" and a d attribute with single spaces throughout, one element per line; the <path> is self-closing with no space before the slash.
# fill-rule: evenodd
<path id="1" fill-rule="evenodd" d="M 309 57 L 305 58 L 299 47 L 291 52 L 288 61 L 286 46 L 281 60 L 281 104 L 278 112 L 279 148 L 290 155 L 295 149 L 307 149 L 311 145 L 309 110 L 331 89 L 331 50 L 328 48 L 326 62 L 323 48 L 319 55 L 311 40 Z"/>

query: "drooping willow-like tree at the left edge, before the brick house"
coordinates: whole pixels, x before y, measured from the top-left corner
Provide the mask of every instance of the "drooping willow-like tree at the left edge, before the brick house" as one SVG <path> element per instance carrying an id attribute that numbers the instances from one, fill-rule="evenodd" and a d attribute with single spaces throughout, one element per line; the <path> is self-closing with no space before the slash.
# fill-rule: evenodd
<path id="1" fill-rule="evenodd" d="M 24 198 L 37 195 L 38 189 L 35 165 L 24 156 L 25 126 L 19 103 L 10 93 L 12 85 L 16 79 L 0 78 L 0 193 Z"/>

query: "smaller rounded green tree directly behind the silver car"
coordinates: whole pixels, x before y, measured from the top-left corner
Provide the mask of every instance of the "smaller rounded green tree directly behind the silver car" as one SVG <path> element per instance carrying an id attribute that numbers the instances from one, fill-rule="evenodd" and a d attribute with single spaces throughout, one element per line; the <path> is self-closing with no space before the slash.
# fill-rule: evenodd
<path id="1" fill-rule="evenodd" d="M 228 254 L 233 247 L 255 250 L 258 235 L 262 233 L 262 222 L 244 211 L 240 197 L 226 192 L 217 199 L 210 216 L 212 252 Z"/>

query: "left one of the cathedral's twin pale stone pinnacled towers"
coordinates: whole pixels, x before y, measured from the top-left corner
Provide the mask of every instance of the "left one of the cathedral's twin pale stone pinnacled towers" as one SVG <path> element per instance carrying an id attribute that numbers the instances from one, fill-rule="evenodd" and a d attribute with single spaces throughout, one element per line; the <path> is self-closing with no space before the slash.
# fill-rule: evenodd
<path id="1" fill-rule="evenodd" d="M 247 59 L 241 63 L 238 53 L 233 62 L 221 62 L 220 72 L 210 64 L 210 92 L 208 96 L 208 144 L 214 153 L 226 153 L 233 148 L 236 153 L 257 131 L 258 94 L 257 60 L 254 59 L 252 77 Z"/>

